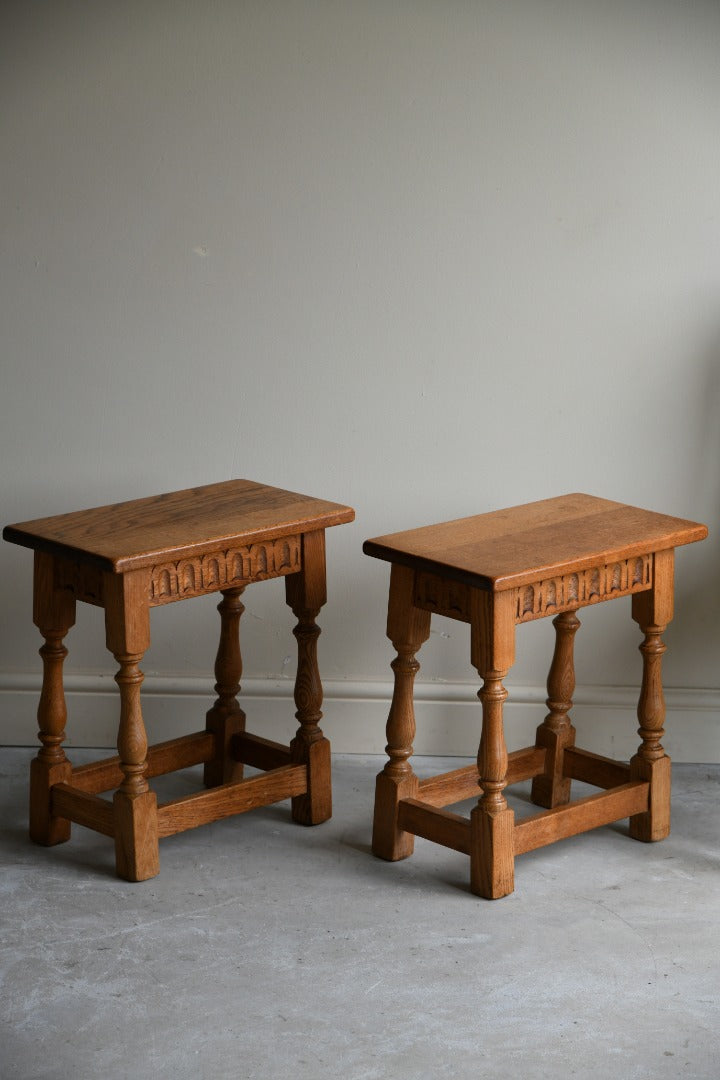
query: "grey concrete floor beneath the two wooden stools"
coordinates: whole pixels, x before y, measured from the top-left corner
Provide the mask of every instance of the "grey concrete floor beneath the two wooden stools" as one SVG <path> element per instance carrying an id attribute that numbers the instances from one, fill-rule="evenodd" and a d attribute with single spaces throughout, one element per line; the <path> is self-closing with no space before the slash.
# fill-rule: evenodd
<path id="1" fill-rule="evenodd" d="M 720 1077 L 718 766 L 676 767 L 664 842 L 566 840 L 487 902 L 456 852 L 370 855 L 381 758 L 336 758 L 327 824 L 217 822 L 133 886 L 97 834 L 26 840 L 32 753 L 0 751 L 3 1080 Z"/>

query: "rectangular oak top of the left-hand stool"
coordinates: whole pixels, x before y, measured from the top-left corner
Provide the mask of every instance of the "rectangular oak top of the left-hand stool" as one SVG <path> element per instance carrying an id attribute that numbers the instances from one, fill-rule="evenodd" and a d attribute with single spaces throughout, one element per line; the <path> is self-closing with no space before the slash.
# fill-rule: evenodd
<path id="1" fill-rule="evenodd" d="M 231 480 L 21 522 L 2 535 L 24 548 L 124 573 L 162 559 L 203 555 L 226 542 L 275 540 L 354 517 L 354 510 L 337 502 Z"/>

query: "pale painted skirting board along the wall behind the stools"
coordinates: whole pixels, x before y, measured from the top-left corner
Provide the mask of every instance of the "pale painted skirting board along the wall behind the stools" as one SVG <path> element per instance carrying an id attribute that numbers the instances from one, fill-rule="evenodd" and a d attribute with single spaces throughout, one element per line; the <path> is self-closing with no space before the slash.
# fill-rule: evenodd
<path id="1" fill-rule="evenodd" d="M 415 740 L 417 755 L 472 758 L 477 753 L 480 705 L 477 684 L 418 683 Z M 119 699 L 111 677 L 67 675 L 68 746 L 114 746 Z M 513 686 L 507 680 L 505 738 L 508 750 L 534 741 L 546 713 L 545 687 Z M 382 754 L 392 684 L 329 679 L 324 683 L 323 730 L 340 754 Z M 0 675 L 0 745 L 36 744 L 40 677 Z M 214 700 L 204 678 L 148 676 L 142 712 L 150 743 L 163 742 L 204 726 Z M 241 693 L 247 729 L 288 742 L 296 729 L 291 679 L 248 678 Z M 663 745 L 676 761 L 720 764 L 720 690 L 666 688 Z M 637 689 L 578 687 L 572 710 L 578 743 L 584 750 L 627 760 L 638 745 Z"/>

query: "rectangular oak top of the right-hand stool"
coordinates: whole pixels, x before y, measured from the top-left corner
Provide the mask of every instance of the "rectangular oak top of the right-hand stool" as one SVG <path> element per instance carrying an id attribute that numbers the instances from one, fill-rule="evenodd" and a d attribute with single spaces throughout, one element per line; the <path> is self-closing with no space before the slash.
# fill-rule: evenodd
<path id="1" fill-rule="evenodd" d="M 366 555 L 502 592 L 704 540 L 705 525 L 592 495 L 563 495 L 366 540 Z"/>

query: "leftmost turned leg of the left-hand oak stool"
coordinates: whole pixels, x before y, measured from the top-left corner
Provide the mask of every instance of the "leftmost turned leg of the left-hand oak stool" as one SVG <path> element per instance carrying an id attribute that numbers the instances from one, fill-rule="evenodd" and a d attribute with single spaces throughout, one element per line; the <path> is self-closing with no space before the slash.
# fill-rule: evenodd
<path id="1" fill-rule="evenodd" d="M 38 738 L 41 747 L 30 764 L 30 839 L 52 847 L 70 838 L 70 822 L 51 810 L 53 784 L 70 783 L 72 766 L 63 740 L 67 708 L 63 688 L 63 639 L 74 623 L 74 598 L 54 588 L 54 559 L 40 552 L 35 557 L 35 622 L 45 639 L 42 657 L 42 691 L 38 705 Z"/>

